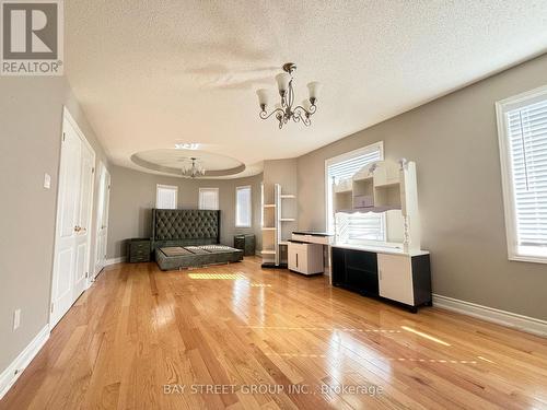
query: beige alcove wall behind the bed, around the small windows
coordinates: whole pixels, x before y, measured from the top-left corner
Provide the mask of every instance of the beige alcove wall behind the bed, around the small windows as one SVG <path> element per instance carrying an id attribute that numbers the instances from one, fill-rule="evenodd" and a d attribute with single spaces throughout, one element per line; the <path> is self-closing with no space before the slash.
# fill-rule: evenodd
<path id="1" fill-rule="evenodd" d="M 255 234 L 257 250 L 260 249 L 260 184 L 263 176 L 237 179 L 185 179 L 159 176 L 113 166 L 110 208 L 108 215 L 108 258 L 126 255 L 126 239 L 152 235 L 152 212 L 155 208 L 158 184 L 178 187 L 178 208 L 197 209 L 199 188 L 219 188 L 221 210 L 221 243 L 233 245 L 233 236 L 240 233 Z M 253 196 L 253 226 L 235 227 L 235 187 L 251 185 Z"/>

